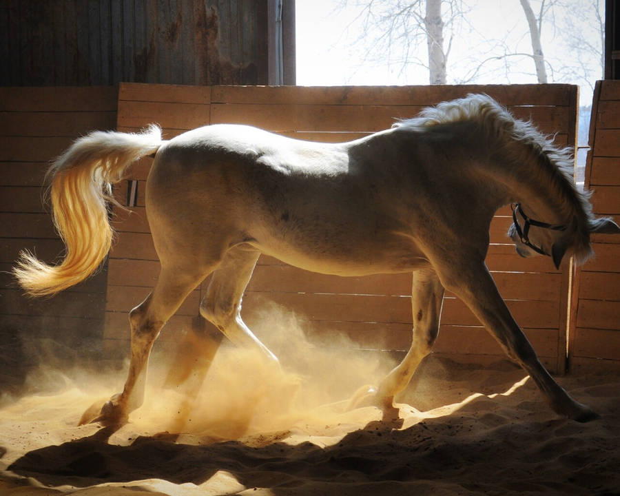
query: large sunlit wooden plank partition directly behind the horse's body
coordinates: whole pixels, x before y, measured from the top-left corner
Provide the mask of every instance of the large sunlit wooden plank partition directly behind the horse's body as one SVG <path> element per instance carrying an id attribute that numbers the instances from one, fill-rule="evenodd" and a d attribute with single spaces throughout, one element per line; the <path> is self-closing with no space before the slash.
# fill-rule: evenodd
<path id="1" fill-rule="evenodd" d="M 167 137 L 207 123 L 245 123 L 316 141 L 347 141 L 389 127 L 397 118 L 415 116 L 426 105 L 486 92 L 520 118 L 532 118 L 557 143 L 574 145 L 577 88 L 570 85 L 444 87 L 180 87 L 123 84 L 118 129 L 136 130 L 160 123 Z M 140 302 L 158 273 L 156 254 L 143 209 L 144 181 L 151 159 L 136 166 L 138 206 L 118 223 L 118 242 L 109 265 L 105 337 L 110 350 L 125 349 L 126 312 Z M 118 190 L 124 201 L 126 185 Z M 508 306 L 553 371 L 564 370 L 568 269 L 557 271 L 547 258 L 524 260 L 507 245 L 510 210 L 491 225 L 488 266 Z M 205 284 L 177 312 L 174 335 L 198 315 Z M 339 278 L 308 273 L 261 257 L 244 298 L 249 324 L 267 301 L 292 309 L 309 321 L 313 333 L 344 332 L 360 347 L 404 350 L 411 340 L 411 275 Z M 120 347 L 120 348 L 119 348 Z M 465 360 L 503 357 L 473 314 L 453 295 L 444 300 L 436 353 Z"/>

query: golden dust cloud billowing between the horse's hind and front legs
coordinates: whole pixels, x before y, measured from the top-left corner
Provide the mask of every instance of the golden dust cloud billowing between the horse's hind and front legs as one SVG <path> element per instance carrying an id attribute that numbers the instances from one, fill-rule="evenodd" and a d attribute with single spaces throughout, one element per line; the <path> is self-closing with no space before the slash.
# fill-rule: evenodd
<path id="1" fill-rule="evenodd" d="M 273 305 L 257 322 L 254 332 L 279 364 L 224 340 L 203 382 L 198 364 L 174 384 L 178 361 L 154 353 L 145 406 L 132 420 L 215 440 L 324 429 L 343 422 L 353 393 L 378 384 L 395 365 L 386 353 L 355 349 L 342 335 L 309 337 L 307 322 Z"/>

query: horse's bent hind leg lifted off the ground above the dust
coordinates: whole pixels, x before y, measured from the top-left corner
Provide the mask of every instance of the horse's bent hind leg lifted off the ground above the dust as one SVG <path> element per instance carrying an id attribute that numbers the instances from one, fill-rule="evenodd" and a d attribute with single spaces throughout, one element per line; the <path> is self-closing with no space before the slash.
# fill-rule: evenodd
<path id="1" fill-rule="evenodd" d="M 215 324 L 234 344 L 258 349 L 269 360 L 277 361 L 241 318 L 243 291 L 259 256 L 260 251 L 249 245 L 229 249 L 211 277 L 207 296 L 200 303 L 200 315 Z"/>

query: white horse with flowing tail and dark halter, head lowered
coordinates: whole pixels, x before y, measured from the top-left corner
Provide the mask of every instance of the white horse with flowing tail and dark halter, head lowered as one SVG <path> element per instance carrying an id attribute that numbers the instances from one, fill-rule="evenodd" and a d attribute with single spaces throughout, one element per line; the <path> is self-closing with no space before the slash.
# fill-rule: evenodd
<path id="1" fill-rule="evenodd" d="M 580 422 L 597 417 L 539 362 L 484 260 L 493 214 L 510 203 L 509 236 L 519 254 L 549 255 L 556 267 L 566 254 L 588 259 L 590 233 L 620 228 L 592 215 L 588 195 L 572 181 L 569 151 L 488 96 L 440 103 L 349 143 L 297 141 L 242 125 L 200 127 L 170 141 L 155 126 L 141 134 L 93 132 L 50 168 L 54 222 L 66 253 L 56 266 L 21 254 L 14 273 L 28 293 L 54 294 L 101 264 L 113 234 L 110 183 L 149 154 L 146 211 L 161 272 L 130 312 L 125 388 L 94 420 L 118 424 L 141 406 L 154 340 L 211 273 L 200 314 L 232 342 L 276 360 L 240 316 L 261 253 L 339 276 L 413 273 L 411 349 L 369 392 L 384 409 L 431 351 L 445 288 L 530 374 L 555 412 Z"/>

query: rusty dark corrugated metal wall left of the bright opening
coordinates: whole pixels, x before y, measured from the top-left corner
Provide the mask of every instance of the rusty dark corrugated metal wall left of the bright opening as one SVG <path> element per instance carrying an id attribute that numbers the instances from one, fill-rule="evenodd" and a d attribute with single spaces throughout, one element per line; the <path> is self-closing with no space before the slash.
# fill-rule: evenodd
<path id="1" fill-rule="evenodd" d="M 267 84 L 267 0 L 0 0 L 0 85 Z"/>

